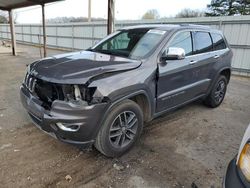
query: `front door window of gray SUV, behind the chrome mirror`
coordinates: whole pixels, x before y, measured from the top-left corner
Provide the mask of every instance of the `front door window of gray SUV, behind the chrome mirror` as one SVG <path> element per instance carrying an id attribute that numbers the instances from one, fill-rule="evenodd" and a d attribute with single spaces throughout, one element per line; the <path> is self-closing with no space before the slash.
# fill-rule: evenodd
<path id="1" fill-rule="evenodd" d="M 178 47 L 185 50 L 186 56 L 192 54 L 192 38 L 189 31 L 177 34 L 169 43 L 168 47 Z"/>

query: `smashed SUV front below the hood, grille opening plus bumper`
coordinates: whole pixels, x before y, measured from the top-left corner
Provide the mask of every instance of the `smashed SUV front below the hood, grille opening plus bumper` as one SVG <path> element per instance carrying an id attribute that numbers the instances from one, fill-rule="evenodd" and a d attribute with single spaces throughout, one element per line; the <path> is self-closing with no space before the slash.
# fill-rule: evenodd
<path id="1" fill-rule="evenodd" d="M 108 103 L 96 87 L 51 83 L 29 73 L 20 95 L 23 106 L 39 128 L 77 145 L 94 141 Z"/>

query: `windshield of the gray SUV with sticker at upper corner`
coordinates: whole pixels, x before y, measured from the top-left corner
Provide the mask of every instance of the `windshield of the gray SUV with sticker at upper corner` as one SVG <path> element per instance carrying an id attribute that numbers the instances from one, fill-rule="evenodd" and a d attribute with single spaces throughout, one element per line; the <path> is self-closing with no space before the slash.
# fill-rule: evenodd
<path id="1" fill-rule="evenodd" d="M 165 33 L 166 31 L 155 29 L 120 31 L 113 37 L 97 44 L 91 51 L 139 59 L 148 55 Z"/>

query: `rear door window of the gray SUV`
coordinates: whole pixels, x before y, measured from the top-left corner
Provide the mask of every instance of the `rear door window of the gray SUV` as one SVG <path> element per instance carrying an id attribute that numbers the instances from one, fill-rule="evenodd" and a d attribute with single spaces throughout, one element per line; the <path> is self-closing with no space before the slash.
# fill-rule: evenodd
<path id="1" fill-rule="evenodd" d="M 213 44 L 209 33 L 196 31 L 193 32 L 195 54 L 212 51 Z"/>

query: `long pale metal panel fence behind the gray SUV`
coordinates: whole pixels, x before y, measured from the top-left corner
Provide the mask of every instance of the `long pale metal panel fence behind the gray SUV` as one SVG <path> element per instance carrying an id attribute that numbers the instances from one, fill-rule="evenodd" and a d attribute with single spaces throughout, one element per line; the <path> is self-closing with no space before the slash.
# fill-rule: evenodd
<path id="1" fill-rule="evenodd" d="M 240 74 L 250 76 L 250 16 L 117 21 L 115 28 L 147 23 L 200 24 L 222 30 L 233 49 L 233 69 Z M 105 37 L 106 31 L 106 22 L 48 24 L 46 28 L 47 44 L 52 48 L 72 51 L 86 49 Z M 10 39 L 8 24 L 0 25 L 0 39 Z M 16 39 L 21 43 L 41 44 L 41 25 L 16 24 Z"/>

